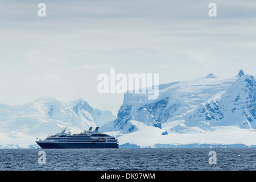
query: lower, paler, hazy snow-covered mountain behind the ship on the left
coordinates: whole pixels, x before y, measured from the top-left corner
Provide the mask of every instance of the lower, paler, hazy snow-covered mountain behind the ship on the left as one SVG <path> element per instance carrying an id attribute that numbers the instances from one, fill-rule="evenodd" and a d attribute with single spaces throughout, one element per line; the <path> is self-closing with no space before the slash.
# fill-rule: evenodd
<path id="1" fill-rule="evenodd" d="M 115 118 L 111 111 L 93 108 L 81 98 L 65 101 L 45 96 L 20 106 L 0 104 L 0 148 L 26 148 L 35 144 L 36 138 L 44 139 L 65 127 L 80 133 Z"/>

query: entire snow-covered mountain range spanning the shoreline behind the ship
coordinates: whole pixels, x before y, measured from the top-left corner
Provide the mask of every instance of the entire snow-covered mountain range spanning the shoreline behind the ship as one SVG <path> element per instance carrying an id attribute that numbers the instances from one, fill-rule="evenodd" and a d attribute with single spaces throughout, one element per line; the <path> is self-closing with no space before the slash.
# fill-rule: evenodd
<path id="1" fill-rule="evenodd" d="M 82 99 L 0 104 L 0 148 L 36 147 L 36 137 L 90 126 L 117 137 L 120 147 L 256 146 L 256 79 L 240 70 L 159 85 L 156 100 L 126 93 L 117 117 Z"/>

